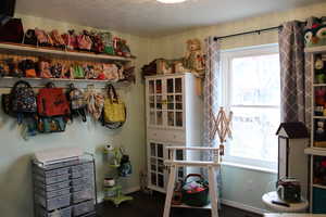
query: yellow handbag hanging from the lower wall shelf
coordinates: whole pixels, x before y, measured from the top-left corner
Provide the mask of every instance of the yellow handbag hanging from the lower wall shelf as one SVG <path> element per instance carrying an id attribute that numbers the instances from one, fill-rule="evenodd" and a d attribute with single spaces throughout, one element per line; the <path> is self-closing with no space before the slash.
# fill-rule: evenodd
<path id="1" fill-rule="evenodd" d="M 117 97 L 112 85 L 108 86 L 108 98 L 104 101 L 103 118 L 104 124 L 126 122 L 125 103 Z"/>

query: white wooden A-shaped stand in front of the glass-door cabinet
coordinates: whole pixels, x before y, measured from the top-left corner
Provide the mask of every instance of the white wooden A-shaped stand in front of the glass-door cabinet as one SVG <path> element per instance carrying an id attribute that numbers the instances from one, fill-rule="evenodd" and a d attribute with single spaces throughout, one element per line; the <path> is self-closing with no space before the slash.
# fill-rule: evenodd
<path id="1" fill-rule="evenodd" d="M 175 188 L 175 179 L 177 176 L 177 170 L 179 167 L 201 167 L 206 168 L 209 174 L 209 188 L 210 188 L 210 196 L 211 196 L 211 212 L 212 217 L 218 217 L 218 208 L 217 208 L 217 184 L 216 184 L 216 176 L 215 169 L 220 167 L 221 156 L 220 156 L 220 149 L 217 148 L 202 148 L 202 146 L 166 146 L 167 151 L 170 151 L 168 159 L 164 161 L 164 164 L 171 168 L 168 183 L 167 183 L 167 191 L 165 197 L 165 206 L 164 206 L 164 214 L 163 217 L 170 217 L 171 212 L 171 203 L 173 197 L 173 192 Z M 210 162 L 201 162 L 201 161 L 177 161 L 175 158 L 176 151 L 184 150 L 184 151 L 199 151 L 199 152 L 210 152 L 213 155 L 213 159 Z M 174 207 L 178 207 L 178 205 L 174 205 Z M 185 207 L 180 205 L 179 207 Z M 198 207 L 193 207 L 198 208 Z"/>

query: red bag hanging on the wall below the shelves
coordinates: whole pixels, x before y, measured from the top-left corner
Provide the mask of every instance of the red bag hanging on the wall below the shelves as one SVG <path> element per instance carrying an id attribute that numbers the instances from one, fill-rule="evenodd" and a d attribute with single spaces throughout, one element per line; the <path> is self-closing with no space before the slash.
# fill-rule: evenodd
<path id="1" fill-rule="evenodd" d="M 63 89 L 55 88 L 51 82 L 46 88 L 39 90 L 37 110 L 40 116 L 47 117 L 71 114 L 70 103 Z"/>

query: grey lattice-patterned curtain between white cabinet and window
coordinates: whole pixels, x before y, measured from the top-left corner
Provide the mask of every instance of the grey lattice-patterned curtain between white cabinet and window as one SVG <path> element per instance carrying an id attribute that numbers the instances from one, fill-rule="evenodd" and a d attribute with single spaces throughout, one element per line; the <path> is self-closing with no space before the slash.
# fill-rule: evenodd
<path id="1" fill-rule="evenodd" d="M 216 115 L 221 105 L 222 80 L 220 75 L 220 41 L 214 40 L 213 37 L 205 39 L 205 80 L 204 80 L 204 146 L 217 146 L 216 140 L 211 140 L 213 131 L 213 115 Z M 203 161 L 211 161 L 212 156 L 208 153 L 203 154 Z M 203 170 L 204 176 L 206 171 Z M 218 189 L 218 207 L 221 208 L 221 194 L 222 194 L 222 176 L 221 169 L 216 171 L 217 189 Z"/>

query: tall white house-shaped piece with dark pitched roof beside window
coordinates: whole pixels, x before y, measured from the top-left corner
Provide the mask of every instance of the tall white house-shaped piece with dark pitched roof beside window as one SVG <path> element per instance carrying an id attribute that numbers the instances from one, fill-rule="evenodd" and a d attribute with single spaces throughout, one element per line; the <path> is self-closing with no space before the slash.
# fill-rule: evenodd
<path id="1" fill-rule="evenodd" d="M 304 149 L 309 145 L 309 133 L 303 123 L 281 123 L 278 136 L 278 179 L 297 178 L 301 183 L 301 192 L 306 196 L 308 156 Z"/>

